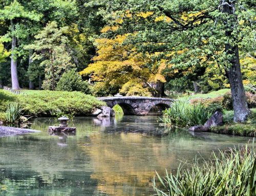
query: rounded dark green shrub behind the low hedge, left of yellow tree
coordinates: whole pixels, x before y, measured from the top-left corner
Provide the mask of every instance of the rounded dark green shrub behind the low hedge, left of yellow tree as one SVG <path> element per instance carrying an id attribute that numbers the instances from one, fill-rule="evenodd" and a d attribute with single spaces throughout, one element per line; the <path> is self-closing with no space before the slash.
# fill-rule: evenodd
<path id="1" fill-rule="evenodd" d="M 74 70 L 65 72 L 57 83 L 56 90 L 59 91 L 80 91 L 90 94 L 90 86 L 88 82 L 82 81 L 81 76 Z"/>

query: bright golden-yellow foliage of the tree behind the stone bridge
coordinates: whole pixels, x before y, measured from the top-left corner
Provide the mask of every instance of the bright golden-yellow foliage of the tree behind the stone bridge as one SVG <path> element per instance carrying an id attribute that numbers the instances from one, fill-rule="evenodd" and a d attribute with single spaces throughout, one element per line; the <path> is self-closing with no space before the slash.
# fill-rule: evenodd
<path id="1" fill-rule="evenodd" d="M 126 35 L 118 35 L 114 39 L 96 39 L 97 56 L 80 75 L 91 76 L 92 81 L 101 82 L 95 88 L 102 89 L 102 83 L 109 86 L 119 86 L 120 92 L 127 95 L 150 95 L 148 82 L 165 82 L 161 74 L 165 62 L 155 65 L 151 70 L 146 66 L 151 61 L 150 55 L 137 53 L 132 45 L 123 45 Z M 133 85 L 132 85 L 132 83 Z M 106 86 L 104 87 L 106 88 Z"/>

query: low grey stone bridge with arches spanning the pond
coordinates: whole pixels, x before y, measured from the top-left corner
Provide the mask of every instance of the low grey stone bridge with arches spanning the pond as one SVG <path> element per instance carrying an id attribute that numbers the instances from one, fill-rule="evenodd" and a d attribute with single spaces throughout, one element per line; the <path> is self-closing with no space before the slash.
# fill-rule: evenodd
<path id="1" fill-rule="evenodd" d="M 146 115 L 151 109 L 164 110 L 169 108 L 173 100 L 146 96 L 110 96 L 99 97 L 109 107 L 119 105 L 126 115 Z"/>

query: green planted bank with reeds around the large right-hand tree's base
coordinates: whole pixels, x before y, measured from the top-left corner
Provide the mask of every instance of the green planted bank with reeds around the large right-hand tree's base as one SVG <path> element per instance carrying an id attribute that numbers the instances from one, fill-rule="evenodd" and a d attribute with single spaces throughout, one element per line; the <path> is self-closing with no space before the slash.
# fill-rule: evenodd
<path id="1" fill-rule="evenodd" d="M 209 118 L 208 113 L 214 111 L 223 112 L 223 126 L 210 128 L 211 132 L 241 136 L 256 135 L 256 95 L 246 92 L 248 107 L 251 114 L 243 123 L 234 123 L 234 112 L 232 111 L 232 98 L 230 89 L 221 89 L 207 94 L 194 94 L 180 97 L 173 106 L 165 110 L 162 122 L 167 126 L 188 127 L 204 125 Z M 198 107 L 198 105 L 200 107 Z M 201 106 L 204 107 L 201 107 Z M 196 108 L 201 108 L 196 110 Z M 207 119 L 205 118 L 207 117 Z"/>

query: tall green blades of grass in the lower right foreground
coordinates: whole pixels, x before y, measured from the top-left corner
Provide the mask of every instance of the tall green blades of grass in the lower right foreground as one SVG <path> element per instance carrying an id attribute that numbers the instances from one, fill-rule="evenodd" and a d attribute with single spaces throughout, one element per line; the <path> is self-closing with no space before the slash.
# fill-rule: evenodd
<path id="1" fill-rule="evenodd" d="M 256 156 L 254 147 L 213 153 L 213 160 L 202 166 L 196 161 L 191 169 L 178 168 L 177 174 L 164 178 L 157 174 L 160 186 L 153 179 L 158 196 L 255 196 Z"/>

